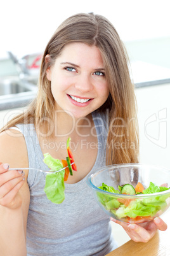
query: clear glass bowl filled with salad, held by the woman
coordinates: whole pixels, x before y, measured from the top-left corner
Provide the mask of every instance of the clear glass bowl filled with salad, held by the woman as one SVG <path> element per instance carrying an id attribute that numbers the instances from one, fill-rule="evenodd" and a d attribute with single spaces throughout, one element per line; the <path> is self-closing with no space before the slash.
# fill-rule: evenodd
<path id="1" fill-rule="evenodd" d="M 170 170 L 164 167 L 105 166 L 89 175 L 87 183 L 103 211 L 122 222 L 149 222 L 170 205 Z"/>

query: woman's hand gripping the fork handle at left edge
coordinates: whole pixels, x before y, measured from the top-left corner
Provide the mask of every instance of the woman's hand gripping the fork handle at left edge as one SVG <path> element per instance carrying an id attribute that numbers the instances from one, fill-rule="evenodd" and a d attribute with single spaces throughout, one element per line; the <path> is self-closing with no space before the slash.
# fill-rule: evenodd
<path id="1" fill-rule="evenodd" d="M 25 173 L 9 171 L 8 168 L 8 164 L 0 163 L 0 205 L 14 210 L 22 205 L 22 197 L 18 191 L 25 181 Z"/>

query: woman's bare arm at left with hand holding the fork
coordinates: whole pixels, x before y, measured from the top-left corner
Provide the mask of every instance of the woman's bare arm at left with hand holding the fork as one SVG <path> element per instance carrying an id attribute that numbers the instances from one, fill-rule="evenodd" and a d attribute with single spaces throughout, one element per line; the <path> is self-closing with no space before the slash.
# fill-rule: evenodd
<path id="1" fill-rule="evenodd" d="M 25 139 L 20 132 L 0 134 L 0 160 L 0 251 L 4 256 L 25 256 L 30 201 L 28 173 L 9 171 L 8 165 L 4 165 L 28 167 Z"/>

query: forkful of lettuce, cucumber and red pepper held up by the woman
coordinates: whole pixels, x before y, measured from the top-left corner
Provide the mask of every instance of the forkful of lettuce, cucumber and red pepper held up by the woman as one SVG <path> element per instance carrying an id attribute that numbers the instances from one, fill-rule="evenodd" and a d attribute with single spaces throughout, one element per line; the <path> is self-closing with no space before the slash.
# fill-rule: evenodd
<path id="1" fill-rule="evenodd" d="M 49 153 L 44 154 L 44 163 L 51 169 L 50 171 L 59 171 L 63 167 L 67 167 L 58 173 L 46 174 L 46 185 L 44 187 L 44 192 L 48 199 L 55 204 L 60 204 L 65 199 L 65 183 L 67 181 L 69 174 L 73 175 L 72 170 L 77 171 L 77 167 L 74 163 L 74 157 L 70 150 L 70 138 L 67 139 L 67 153 L 68 157 L 66 160 L 54 159 L 49 155 Z"/>

